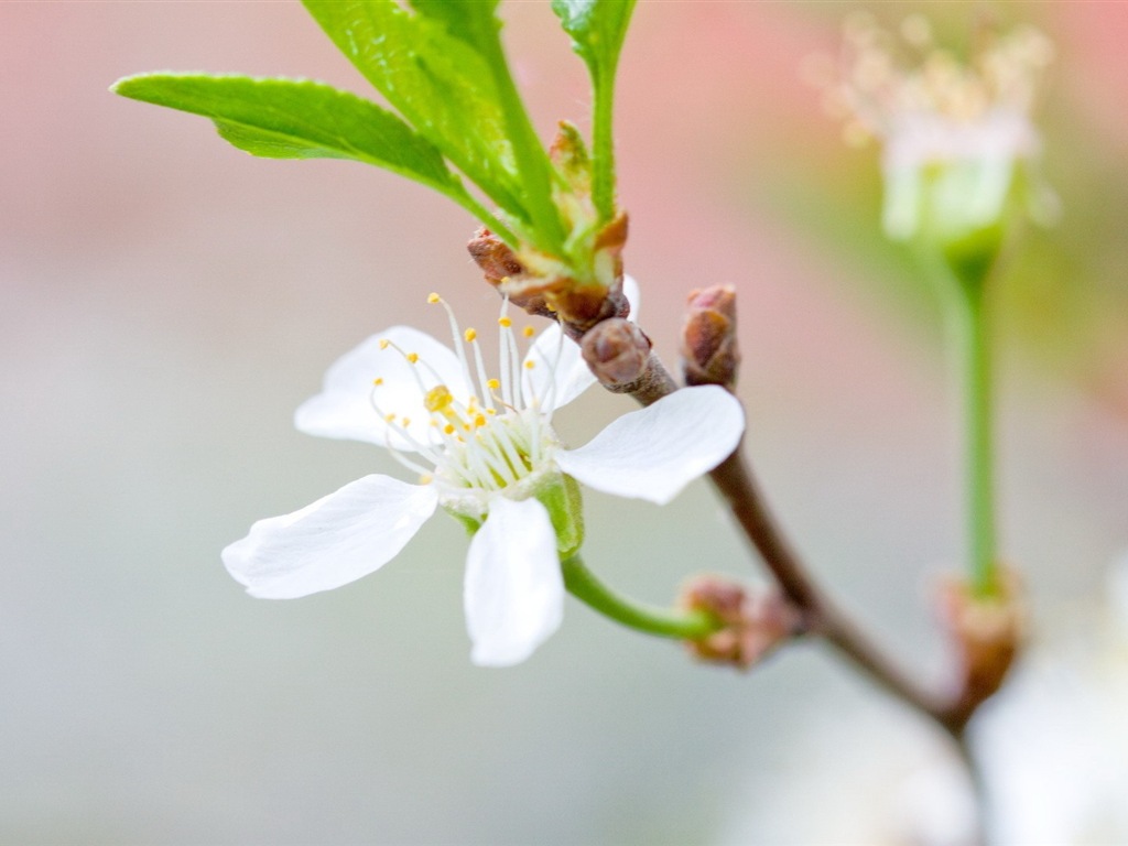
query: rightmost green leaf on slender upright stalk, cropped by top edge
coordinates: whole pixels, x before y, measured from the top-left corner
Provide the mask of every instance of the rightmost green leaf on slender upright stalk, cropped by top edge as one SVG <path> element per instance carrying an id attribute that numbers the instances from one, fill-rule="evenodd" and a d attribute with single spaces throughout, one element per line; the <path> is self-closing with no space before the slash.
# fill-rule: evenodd
<path id="1" fill-rule="evenodd" d="M 615 72 L 635 0 L 553 0 L 553 11 L 572 36 L 572 49 L 591 77 L 592 202 L 601 222 L 616 213 L 615 144 L 611 131 Z"/>

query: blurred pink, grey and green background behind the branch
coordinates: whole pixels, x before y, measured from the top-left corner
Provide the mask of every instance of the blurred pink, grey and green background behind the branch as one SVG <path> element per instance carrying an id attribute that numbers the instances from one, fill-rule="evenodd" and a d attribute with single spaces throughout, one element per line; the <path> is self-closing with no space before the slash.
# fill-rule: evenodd
<path id="1" fill-rule="evenodd" d="M 875 151 L 843 144 L 802 80 L 861 8 L 640 2 L 617 127 L 626 261 L 670 361 L 687 290 L 738 285 L 748 449 L 775 509 L 843 602 L 938 678 L 928 597 L 959 549 L 938 315 L 878 232 Z M 1128 839 L 1128 626 L 1105 589 L 1128 547 L 1128 3 L 869 8 L 924 10 L 957 44 L 987 11 L 1058 47 L 1040 122 L 1064 217 L 996 290 L 1002 534 L 1033 646 L 977 738 L 1004 840 Z M 544 135 L 585 125 L 547 3 L 503 14 Z M 293 431 L 324 369 L 391 324 L 440 332 L 431 290 L 466 323 L 496 301 L 464 250 L 474 222 L 425 190 L 253 160 L 106 90 L 159 69 L 368 94 L 294 2 L 0 3 L 0 841 L 958 834 L 942 740 L 817 646 L 733 673 L 570 600 L 526 664 L 473 668 L 453 521 L 347 588 L 247 598 L 222 546 L 395 472 Z M 562 434 L 628 407 L 593 394 Z M 669 601 L 702 569 L 758 579 L 704 483 L 666 509 L 587 504 L 589 563 L 636 596 Z"/>

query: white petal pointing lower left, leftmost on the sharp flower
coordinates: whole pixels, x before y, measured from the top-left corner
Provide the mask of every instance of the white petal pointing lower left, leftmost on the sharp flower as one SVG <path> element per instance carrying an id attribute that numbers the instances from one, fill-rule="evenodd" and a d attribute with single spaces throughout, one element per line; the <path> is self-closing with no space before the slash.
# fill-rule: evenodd
<path id="1" fill-rule="evenodd" d="M 292 514 L 259 520 L 223 550 L 223 564 L 253 597 L 340 588 L 391 561 L 438 501 L 432 485 L 364 476 Z"/>

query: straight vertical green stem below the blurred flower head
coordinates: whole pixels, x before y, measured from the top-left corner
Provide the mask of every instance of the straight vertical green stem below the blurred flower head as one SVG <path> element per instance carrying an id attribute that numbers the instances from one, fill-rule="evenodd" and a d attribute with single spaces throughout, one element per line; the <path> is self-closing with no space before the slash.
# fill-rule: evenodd
<path id="1" fill-rule="evenodd" d="M 955 283 L 951 317 L 959 347 L 963 417 L 963 484 L 967 563 L 977 597 L 994 596 L 994 450 L 992 438 L 990 327 L 984 284 Z"/>

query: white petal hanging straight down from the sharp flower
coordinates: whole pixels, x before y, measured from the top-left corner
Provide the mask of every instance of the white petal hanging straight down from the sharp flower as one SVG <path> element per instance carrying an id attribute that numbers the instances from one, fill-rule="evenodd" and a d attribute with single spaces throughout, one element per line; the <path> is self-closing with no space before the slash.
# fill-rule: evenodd
<path id="1" fill-rule="evenodd" d="M 556 534 L 536 500 L 497 496 L 466 558 L 466 627 L 470 658 L 483 667 L 527 659 L 564 616 L 564 578 Z"/>

